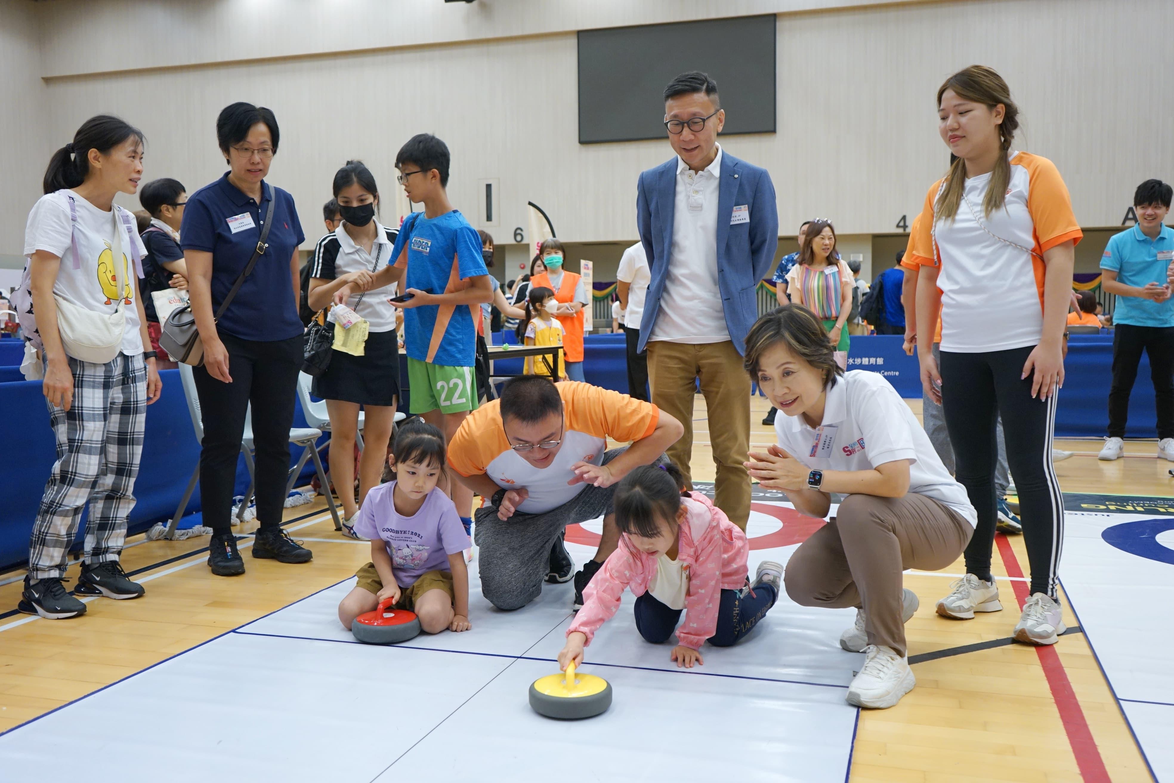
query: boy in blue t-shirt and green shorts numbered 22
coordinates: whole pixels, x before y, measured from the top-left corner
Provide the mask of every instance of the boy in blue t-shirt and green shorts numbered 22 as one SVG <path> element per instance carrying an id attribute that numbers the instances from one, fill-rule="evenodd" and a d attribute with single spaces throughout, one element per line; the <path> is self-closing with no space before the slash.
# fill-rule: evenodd
<path id="1" fill-rule="evenodd" d="M 367 290 L 403 278 L 404 347 L 407 352 L 410 411 L 452 439 L 470 411 L 477 410 L 477 318 L 481 303 L 493 299 L 490 272 L 481 257 L 481 237 L 453 209 L 448 184 L 448 147 L 431 134 L 417 134 L 396 155 L 399 183 L 423 212 L 409 215 L 392 248 L 394 259 L 379 270 Z M 335 295 L 350 295 L 343 289 Z M 345 302 L 346 299 L 342 299 Z M 466 532 L 473 493 L 461 484 L 452 488 Z"/>

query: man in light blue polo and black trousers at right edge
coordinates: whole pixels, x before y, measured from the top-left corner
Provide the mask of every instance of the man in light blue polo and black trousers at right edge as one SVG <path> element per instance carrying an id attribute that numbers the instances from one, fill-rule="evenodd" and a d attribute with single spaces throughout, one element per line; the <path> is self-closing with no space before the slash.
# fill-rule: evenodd
<path id="1" fill-rule="evenodd" d="M 1161 180 L 1138 185 L 1133 194 L 1138 224 L 1114 235 L 1101 256 L 1101 285 L 1116 295 L 1116 305 L 1108 437 L 1100 459 L 1116 459 L 1125 451 L 1129 392 L 1145 351 L 1158 409 L 1158 455 L 1174 463 L 1174 299 L 1169 271 L 1174 230 L 1162 225 L 1172 196 L 1174 188 Z"/>

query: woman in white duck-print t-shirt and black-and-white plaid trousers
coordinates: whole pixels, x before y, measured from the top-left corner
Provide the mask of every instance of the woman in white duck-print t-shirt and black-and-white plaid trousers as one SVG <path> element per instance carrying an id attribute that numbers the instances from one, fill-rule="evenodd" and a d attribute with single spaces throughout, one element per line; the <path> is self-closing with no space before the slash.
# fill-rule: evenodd
<path id="1" fill-rule="evenodd" d="M 47 619 L 86 613 L 86 605 L 66 592 L 62 579 L 87 504 L 86 549 L 74 592 L 112 599 L 144 593 L 127 579 L 119 558 L 127 515 L 135 505 L 146 409 L 158 399 L 162 384 L 155 353 L 143 351 L 150 338 L 139 292 L 142 270 L 135 266 L 146 248 L 134 216 L 114 204 L 116 194 L 139 189 L 142 158 L 141 131 L 117 117 L 90 117 L 73 142 L 54 153 L 45 173 L 45 195 L 25 229 L 28 286 L 19 310 L 25 333 L 43 362 L 42 386 L 58 461 L 33 522 L 19 608 Z M 58 323 L 62 306 L 102 316 L 114 316 L 121 306 L 122 344 L 114 358 L 97 364 L 70 356 Z M 76 344 L 70 350 L 83 352 Z"/>

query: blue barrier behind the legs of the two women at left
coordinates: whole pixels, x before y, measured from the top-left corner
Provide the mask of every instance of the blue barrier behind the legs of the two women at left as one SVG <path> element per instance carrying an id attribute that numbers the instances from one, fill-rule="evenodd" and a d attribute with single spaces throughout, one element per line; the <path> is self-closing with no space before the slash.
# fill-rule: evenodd
<path id="1" fill-rule="evenodd" d="M 200 444 L 191 428 L 180 371 L 164 370 L 160 377 L 163 380 L 163 393 L 158 401 L 147 407 L 143 453 L 139 478 L 135 480 L 136 502 L 130 512 L 131 532 L 143 531 L 157 521 L 170 519 L 200 461 Z M 9 443 L 19 448 L 14 453 L 15 459 L 8 460 L 6 470 L 0 474 L 0 498 L 5 500 L 0 504 L 0 568 L 7 568 L 25 562 L 28 558 L 28 536 L 40 507 L 45 481 L 56 460 L 56 451 L 41 382 L 0 384 L 0 411 L 4 411 L 4 426 Z M 294 412 L 294 426 L 308 426 L 301 404 Z M 323 440 L 326 437 L 323 436 Z M 290 467 L 294 467 L 299 455 L 301 450 L 295 452 L 290 448 Z M 325 459 L 323 453 L 323 461 Z M 312 475 L 313 463 L 309 461 L 302 478 L 309 479 Z M 244 494 L 248 486 L 249 473 L 244 458 L 241 458 L 237 463 L 236 493 Z M 187 513 L 197 511 L 198 484 L 188 502 Z M 83 515 L 79 526 L 79 542 L 85 538 L 85 519 Z"/>

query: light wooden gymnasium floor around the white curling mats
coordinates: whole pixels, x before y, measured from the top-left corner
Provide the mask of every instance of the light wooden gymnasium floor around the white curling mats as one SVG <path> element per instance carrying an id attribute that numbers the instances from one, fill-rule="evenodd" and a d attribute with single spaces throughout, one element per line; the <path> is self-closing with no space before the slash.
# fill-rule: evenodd
<path id="1" fill-rule="evenodd" d="M 911 400 L 911 405 L 919 413 L 919 400 Z M 758 423 L 765 410 L 765 400 L 755 398 L 754 445 L 771 441 L 769 430 Z M 694 478 L 711 480 L 701 397 L 694 419 Z M 1152 443 L 1129 444 L 1127 458 L 1115 463 L 1095 459 L 1099 441 L 1061 440 L 1057 446 L 1077 452 L 1057 465 L 1066 492 L 1170 494 L 1168 466 L 1153 458 Z M 5 616 L 16 606 L 20 585 L 0 587 L 0 733 L 352 574 L 366 561 L 366 547 L 355 546 L 336 533 L 323 508 L 318 501 L 286 512 L 288 529 L 315 552 L 312 565 L 305 567 L 247 556 L 244 578 L 218 579 L 204 566 L 202 547 L 207 539 L 148 542 L 128 549 L 123 556 L 126 569 L 146 582 L 144 600 L 94 600 L 83 619 L 59 622 Z M 244 529 L 251 527 L 249 522 Z M 242 548 L 250 541 L 243 540 Z M 945 574 L 963 573 L 960 561 L 945 574 L 906 574 L 906 587 L 922 601 L 908 626 L 910 655 L 1005 639 L 1014 621 L 1013 587 L 1023 587 L 1021 581 L 1007 579 L 1008 566 L 1016 572 L 1026 562 L 1021 540 L 1005 539 L 996 552 L 993 571 L 1008 610 L 978 615 L 965 623 L 943 622 L 933 614 L 935 602 L 952 579 Z M 76 576 L 76 566 L 70 567 L 69 576 Z M 1066 623 L 1077 627 L 1067 606 L 1066 615 Z M 477 617 L 473 621 L 475 627 Z M 234 668 L 239 670 L 242 663 L 237 661 Z M 325 659 L 323 667 L 330 663 Z M 915 673 L 917 688 L 896 708 L 861 711 L 849 781 L 1153 779 L 1079 632 L 1043 650 L 1019 644 L 960 654 L 954 650 L 915 663 Z M 231 682 L 225 684 L 232 687 Z M 142 717 L 149 721 L 149 716 Z M 167 735 L 166 727 L 143 724 L 134 730 L 161 730 L 162 736 Z M 242 725 L 241 730 L 249 729 Z M 182 742 L 182 737 L 174 741 Z"/>

